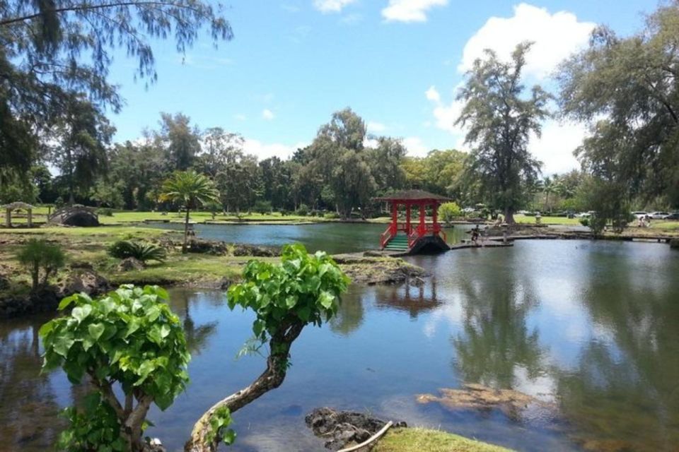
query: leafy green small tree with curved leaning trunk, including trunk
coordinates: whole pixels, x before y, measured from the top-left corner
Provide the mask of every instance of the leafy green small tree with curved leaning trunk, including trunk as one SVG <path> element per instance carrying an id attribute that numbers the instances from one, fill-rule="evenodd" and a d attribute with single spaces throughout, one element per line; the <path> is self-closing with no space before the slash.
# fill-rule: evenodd
<path id="1" fill-rule="evenodd" d="M 255 311 L 252 350 L 268 343 L 267 369 L 237 393 L 220 400 L 195 424 L 189 452 L 214 452 L 224 436 L 215 432 L 213 419 L 243 408 L 279 387 L 290 366 L 292 343 L 308 324 L 323 325 L 337 314 L 349 278 L 323 251 L 308 254 L 302 245 L 286 245 L 280 263 L 253 260 L 243 270 L 243 283 L 229 287 L 228 307 Z M 257 346 L 258 345 L 258 346 Z"/>

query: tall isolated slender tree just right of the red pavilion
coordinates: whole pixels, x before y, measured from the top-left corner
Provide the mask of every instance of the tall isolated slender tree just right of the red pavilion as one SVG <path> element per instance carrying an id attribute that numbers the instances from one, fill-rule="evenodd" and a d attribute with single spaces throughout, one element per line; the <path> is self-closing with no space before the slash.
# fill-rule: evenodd
<path id="1" fill-rule="evenodd" d="M 458 94 L 465 107 L 455 124 L 467 128 L 465 143 L 472 145 L 468 171 L 480 179 L 483 193 L 494 207 L 504 210 L 509 223 L 526 197 L 527 182 L 540 171 L 540 162 L 528 152 L 528 138 L 531 132 L 540 136 L 540 121 L 549 115 L 550 96 L 540 86 L 522 97 L 526 87 L 521 71 L 530 45 L 518 44 L 509 62 L 486 49 L 485 58 L 474 62 Z"/>

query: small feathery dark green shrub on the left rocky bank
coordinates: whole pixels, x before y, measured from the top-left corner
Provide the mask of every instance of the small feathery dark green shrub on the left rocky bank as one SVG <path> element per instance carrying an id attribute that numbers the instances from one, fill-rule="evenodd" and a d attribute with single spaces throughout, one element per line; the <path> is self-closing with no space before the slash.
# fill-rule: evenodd
<path id="1" fill-rule="evenodd" d="M 50 276 L 64 266 L 66 254 L 59 244 L 52 244 L 45 239 L 30 239 L 21 247 L 16 259 L 28 268 L 31 290 L 36 290 L 40 285 L 47 284 Z"/>

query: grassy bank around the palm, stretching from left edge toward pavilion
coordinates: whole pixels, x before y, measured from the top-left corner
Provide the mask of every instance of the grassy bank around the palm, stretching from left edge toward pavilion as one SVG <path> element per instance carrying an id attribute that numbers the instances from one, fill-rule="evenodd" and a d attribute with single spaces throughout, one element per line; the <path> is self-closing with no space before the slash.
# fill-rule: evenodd
<path id="1" fill-rule="evenodd" d="M 219 288 L 228 281 L 240 278 L 243 266 L 253 256 L 236 256 L 236 247 L 229 245 L 219 254 L 181 253 L 182 232 L 139 227 L 135 225 L 101 227 L 37 227 L 0 230 L 0 275 L 13 281 L 11 290 L 28 290 L 29 276 L 16 261 L 16 254 L 30 238 L 44 238 L 58 243 L 71 267 L 88 264 L 112 284 L 124 283 L 175 285 L 182 287 Z M 141 270 L 121 271 L 120 259 L 108 255 L 108 247 L 122 239 L 151 242 L 163 246 L 166 261 L 151 261 Z M 242 249 L 242 246 L 239 246 Z M 247 253 L 247 251 L 246 251 Z M 275 257 L 257 257 L 262 261 L 278 261 Z M 340 266 L 357 284 L 397 283 L 410 277 L 424 275 L 424 271 L 395 258 L 361 258 L 341 260 Z M 55 280 L 63 278 L 64 268 Z"/>

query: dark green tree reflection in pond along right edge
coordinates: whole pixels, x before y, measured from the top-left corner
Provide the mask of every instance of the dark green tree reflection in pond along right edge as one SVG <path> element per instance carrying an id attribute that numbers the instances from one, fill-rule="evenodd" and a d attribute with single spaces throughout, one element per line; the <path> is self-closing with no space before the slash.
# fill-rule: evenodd
<path id="1" fill-rule="evenodd" d="M 621 266 L 620 249 L 601 246 L 584 264 L 593 275 L 583 306 L 593 340 L 557 391 L 574 437 L 602 451 L 671 451 L 679 444 L 679 304 L 658 249 L 638 249 Z M 674 273 L 676 275 L 676 273 Z M 670 301 L 672 300 L 672 301 Z M 643 432 L 643 434 L 640 434 Z"/>

